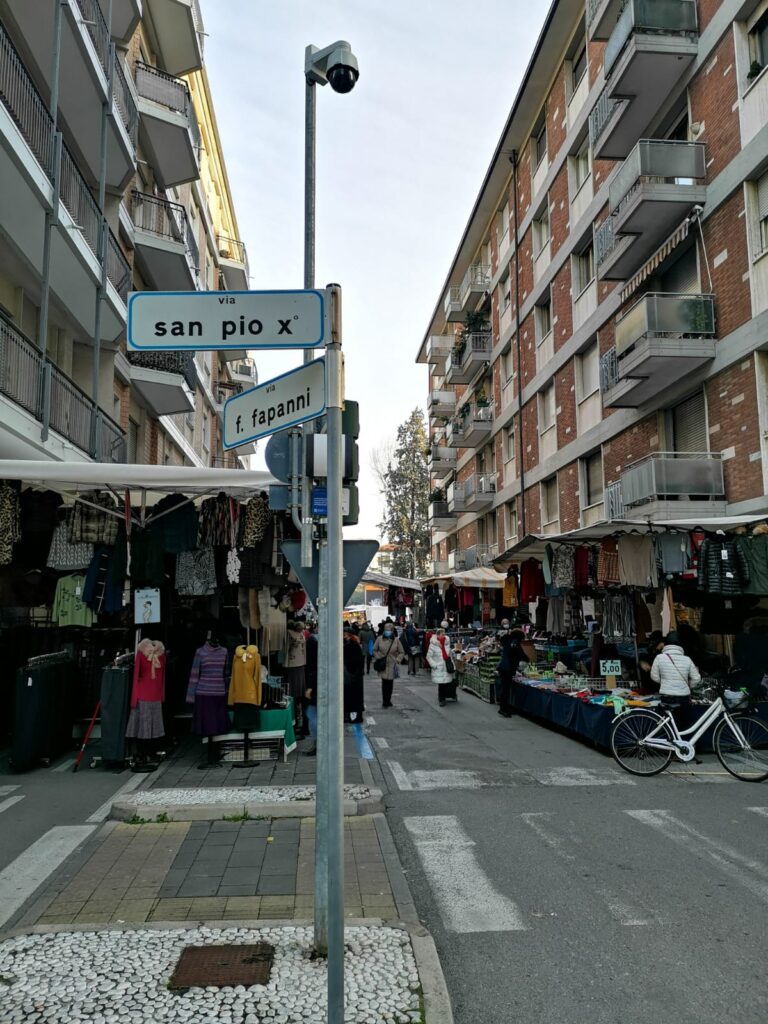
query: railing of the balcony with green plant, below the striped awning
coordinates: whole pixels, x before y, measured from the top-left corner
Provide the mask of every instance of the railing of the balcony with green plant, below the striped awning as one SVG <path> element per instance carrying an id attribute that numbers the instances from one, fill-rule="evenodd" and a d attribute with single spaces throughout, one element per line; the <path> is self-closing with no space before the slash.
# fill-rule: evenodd
<path id="1" fill-rule="evenodd" d="M 648 292 L 616 321 L 618 355 L 647 335 L 701 337 L 715 334 L 713 295 Z"/>

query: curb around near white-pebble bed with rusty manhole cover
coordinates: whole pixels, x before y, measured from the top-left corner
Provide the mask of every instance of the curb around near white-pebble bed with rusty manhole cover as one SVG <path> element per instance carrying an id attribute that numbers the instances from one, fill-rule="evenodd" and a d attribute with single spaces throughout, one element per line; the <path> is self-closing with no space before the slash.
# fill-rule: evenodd
<path id="1" fill-rule="evenodd" d="M 13 939 L 22 935 L 57 935 L 80 932 L 136 932 L 155 931 L 170 932 L 191 930 L 191 928 L 311 928 L 309 920 L 300 921 L 294 918 L 280 918 L 274 921 L 266 918 L 256 921 L 152 921 L 141 924 L 110 924 L 110 925 L 34 925 L 31 928 L 10 929 L 2 936 L 2 940 Z M 419 972 L 424 998 L 426 1024 L 454 1024 L 454 1013 L 451 1009 L 445 979 L 437 956 L 434 940 L 422 925 L 404 921 L 383 921 L 381 918 L 347 918 L 345 928 L 392 928 L 406 931 L 411 937 L 411 946 Z"/>

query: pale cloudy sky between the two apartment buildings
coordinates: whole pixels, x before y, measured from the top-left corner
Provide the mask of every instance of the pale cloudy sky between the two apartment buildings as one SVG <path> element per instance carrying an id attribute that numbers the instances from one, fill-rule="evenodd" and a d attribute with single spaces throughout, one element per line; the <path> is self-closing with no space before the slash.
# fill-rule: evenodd
<path id="1" fill-rule="evenodd" d="M 315 286 L 342 286 L 346 396 L 360 406 L 360 518 L 345 536 L 380 540 L 372 452 L 426 413 L 416 354 L 549 4 L 201 2 L 253 289 L 303 285 L 304 49 L 346 39 L 359 62 L 352 92 L 317 89 Z M 303 358 L 255 355 L 260 382 Z"/>

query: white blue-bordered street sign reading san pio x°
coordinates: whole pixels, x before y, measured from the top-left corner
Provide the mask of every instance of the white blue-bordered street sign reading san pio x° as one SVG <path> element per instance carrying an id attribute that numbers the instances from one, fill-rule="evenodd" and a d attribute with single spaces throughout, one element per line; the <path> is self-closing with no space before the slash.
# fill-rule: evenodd
<path id="1" fill-rule="evenodd" d="M 326 344 L 326 293 L 134 292 L 128 297 L 128 348 L 319 348 Z"/>

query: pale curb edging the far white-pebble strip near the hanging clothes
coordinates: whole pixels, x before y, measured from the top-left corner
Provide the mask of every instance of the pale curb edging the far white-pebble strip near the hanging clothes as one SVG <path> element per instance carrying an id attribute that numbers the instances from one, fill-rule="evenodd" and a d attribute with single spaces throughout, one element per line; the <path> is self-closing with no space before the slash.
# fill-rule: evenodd
<path id="1" fill-rule="evenodd" d="M 364 800 L 345 800 L 344 817 L 378 814 L 384 810 L 384 796 L 380 790 L 373 790 Z M 170 821 L 219 821 L 224 816 L 246 811 L 252 818 L 313 818 L 316 804 L 313 800 L 292 800 L 268 804 L 263 801 L 244 800 L 242 804 L 196 804 L 184 807 L 178 804 L 142 804 L 127 797 L 116 800 L 110 817 L 117 821 L 130 821 L 135 817 L 147 817 L 147 821 L 166 815 Z"/>

